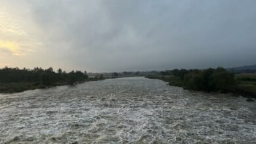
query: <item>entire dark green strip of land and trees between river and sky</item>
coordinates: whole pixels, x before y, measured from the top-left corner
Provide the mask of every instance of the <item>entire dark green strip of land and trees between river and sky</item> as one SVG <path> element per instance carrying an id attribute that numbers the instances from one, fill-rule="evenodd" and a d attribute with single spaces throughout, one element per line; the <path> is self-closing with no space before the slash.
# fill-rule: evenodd
<path id="1" fill-rule="evenodd" d="M 256 73 L 233 73 L 223 67 L 217 69 L 173 69 L 166 71 L 123 73 L 87 73 L 62 69 L 53 71 L 52 67 L 42 69 L 19 69 L 4 67 L 0 69 L 0 93 L 24 92 L 49 88 L 52 86 L 74 85 L 88 81 L 101 81 L 121 77 L 146 77 L 169 82 L 170 86 L 179 86 L 188 90 L 205 92 L 232 93 L 244 97 L 256 98 Z"/>

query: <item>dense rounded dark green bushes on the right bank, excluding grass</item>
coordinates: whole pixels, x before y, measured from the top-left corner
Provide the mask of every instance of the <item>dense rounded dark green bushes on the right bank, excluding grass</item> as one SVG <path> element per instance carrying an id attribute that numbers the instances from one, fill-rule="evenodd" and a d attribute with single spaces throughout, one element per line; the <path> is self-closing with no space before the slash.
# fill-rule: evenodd
<path id="1" fill-rule="evenodd" d="M 203 70 L 173 69 L 161 71 L 160 74 L 160 79 L 169 81 L 170 85 L 182 86 L 189 90 L 230 92 L 235 84 L 234 74 L 226 71 L 223 67 Z M 148 78 L 154 79 L 154 76 L 151 75 Z"/>

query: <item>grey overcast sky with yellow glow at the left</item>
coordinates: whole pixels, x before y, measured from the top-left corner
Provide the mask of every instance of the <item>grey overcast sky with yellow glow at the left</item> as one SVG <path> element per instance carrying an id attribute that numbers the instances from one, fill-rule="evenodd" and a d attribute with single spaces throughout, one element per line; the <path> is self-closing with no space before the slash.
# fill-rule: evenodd
<path id="1" fill-rule="evenodd" d="M 0 67 L 103 72 L 255 63 L 255 0 L 0 0 Z"/>

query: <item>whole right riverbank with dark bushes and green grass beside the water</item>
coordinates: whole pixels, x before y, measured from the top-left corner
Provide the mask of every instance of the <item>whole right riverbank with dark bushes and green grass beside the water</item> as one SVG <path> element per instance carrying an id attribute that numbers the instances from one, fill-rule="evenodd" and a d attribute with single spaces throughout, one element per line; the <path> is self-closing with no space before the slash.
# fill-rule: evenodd
<path id="1" fill-rule="evenodd" d="M 234 74 L 223 67 L 217 69 L 173 69 L 146 75 L 160 79 L 170 86 L 204 92 L 232 93 L 236 96 L 256 98 L 256 74 Z"/>

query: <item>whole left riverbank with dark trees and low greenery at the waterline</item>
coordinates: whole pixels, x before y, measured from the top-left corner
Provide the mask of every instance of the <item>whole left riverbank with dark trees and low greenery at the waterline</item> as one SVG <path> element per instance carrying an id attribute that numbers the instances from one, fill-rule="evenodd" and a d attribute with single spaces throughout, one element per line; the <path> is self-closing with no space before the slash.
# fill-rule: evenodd
<path id="1" fill-rule="evenodd" d="M 53 68 L 42 69 L 19 69 L 5 67 L 0 69 L 0 92 L 14 93 L 24 92 L 25 90 L 35 90 L 49 88 L 52 86 L 74 85 L 87 81 L 100 81 L 104 79 L 116 78 L 118 73 L 112 73 L 112 76 L 104 77 L 103 74 L 89 76 L 87 72 L 71 71 L 66 73 L 62 69 L 57 72 Z"/>

